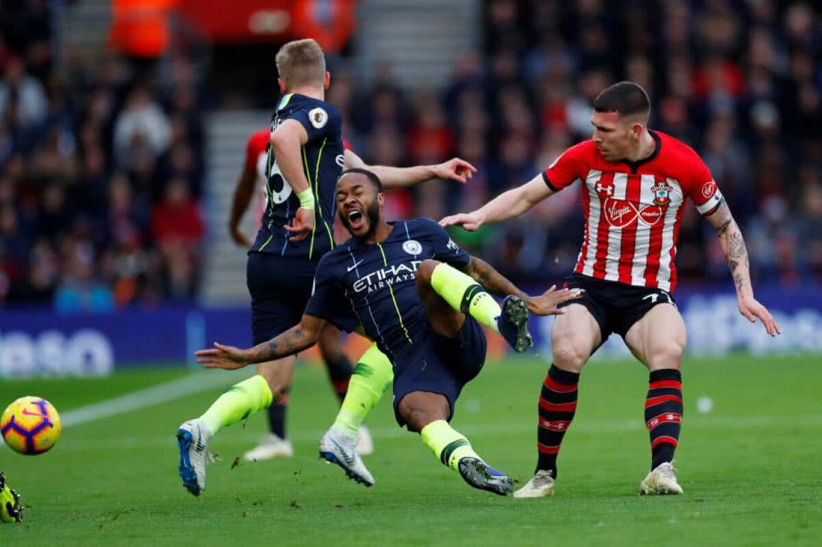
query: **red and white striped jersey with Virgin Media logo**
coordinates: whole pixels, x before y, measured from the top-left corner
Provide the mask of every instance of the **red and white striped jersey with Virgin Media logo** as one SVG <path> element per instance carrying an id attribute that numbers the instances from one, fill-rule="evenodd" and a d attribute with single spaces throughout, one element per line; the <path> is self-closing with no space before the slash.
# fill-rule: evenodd
<path id="1" fill-rule="evenodd" d="M 709 169 L 694 149 L 658 131 L 657 147 L 638 162 L 608 162 L 593 140 L 567 149 L 543 172 L 553 191 L 577 179 L 585 232 L 575 273 L 673 292 L 677 286 L 677 234 L 686 198 L 700 214 L 722 200 Z"/>

